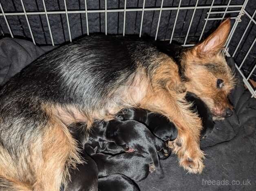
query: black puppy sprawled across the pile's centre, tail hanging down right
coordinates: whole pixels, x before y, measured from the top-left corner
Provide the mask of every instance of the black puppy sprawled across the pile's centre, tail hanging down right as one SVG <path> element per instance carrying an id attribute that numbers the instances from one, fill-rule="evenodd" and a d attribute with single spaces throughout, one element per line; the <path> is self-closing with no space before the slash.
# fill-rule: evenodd
<path id="1" fill-rule="evenodd" d="M 158 152 L 170 155 L 170 149 L 161 139 L 152 135 L 148 128 L 134 120 L 111 120 L 98 122 L 92 128 L 90 137 L 95 141 L 108 141 L 121 146 L 125 152 L 137 151 L 152 159 L 158 173 L 162 173 Z"/>

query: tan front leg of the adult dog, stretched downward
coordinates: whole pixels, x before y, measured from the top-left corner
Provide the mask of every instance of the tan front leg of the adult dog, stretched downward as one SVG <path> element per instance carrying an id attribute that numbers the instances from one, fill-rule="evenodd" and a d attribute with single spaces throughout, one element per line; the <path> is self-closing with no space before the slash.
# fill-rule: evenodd
<path id="1" fill-rule="evenodd" d="M 190 104 L 183 99 L 184 93 L 161 89 L 150 93 L 141 107 L 166 115 L 177 127 L 178 137 L 169 145 L 179 157 L 180 165 L 190 173 L 201 173 L 204 154 L 199 147 L 201 119 L 190 111 Z"/>

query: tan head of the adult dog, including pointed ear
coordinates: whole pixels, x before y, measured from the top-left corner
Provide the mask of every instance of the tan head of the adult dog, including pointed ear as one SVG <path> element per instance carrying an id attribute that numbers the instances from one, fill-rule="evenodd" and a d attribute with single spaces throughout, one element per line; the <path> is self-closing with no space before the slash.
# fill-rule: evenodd
<path id="1" fill-rule="evenodd" d="M 229 33 L 230 19 L 227 19 L 204 41 L 186 50 L 181 61 L 188 78 L 187 90 L 207 104 L 215 119 L 233 113 L 227 96 L 234 88 L 235 78 L 223 53 Z"/>

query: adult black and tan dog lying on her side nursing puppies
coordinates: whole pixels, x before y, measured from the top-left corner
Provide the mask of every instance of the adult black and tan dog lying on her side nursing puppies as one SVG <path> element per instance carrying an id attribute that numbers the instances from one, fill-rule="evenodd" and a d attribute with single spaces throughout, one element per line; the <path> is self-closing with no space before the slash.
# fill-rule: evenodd
<path id="1" fill-rule="evenodd" d="M 201 119 L 185 91 L 216 117 L 232 114 L 227 95 L 234 77 L 221 51 L 225 20 L 209 37 L 174 57 L 139 38 L 91 35 L 31 63 L 0 91 L 0 189 L 57 191 L 82 163 L 67 126 L 113 119 L 140 106 L 168 117 L 178 129 L 174 151 L 191 173 L 201 173 Z M 175 50 L 174 50 L 175 51 Z"/>

